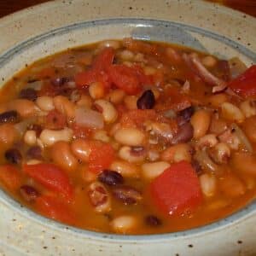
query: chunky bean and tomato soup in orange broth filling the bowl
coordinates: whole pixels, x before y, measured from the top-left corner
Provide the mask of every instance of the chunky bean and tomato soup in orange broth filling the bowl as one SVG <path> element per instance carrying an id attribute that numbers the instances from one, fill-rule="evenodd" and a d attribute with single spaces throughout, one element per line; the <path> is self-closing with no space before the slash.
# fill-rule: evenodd
<path id="1" fill-rule="evenodd" d="M 0 183 L 85 230 L 210 224 L 256 195 L 256 66 L 124 38 L 36 61 L 0 91 Z"/>

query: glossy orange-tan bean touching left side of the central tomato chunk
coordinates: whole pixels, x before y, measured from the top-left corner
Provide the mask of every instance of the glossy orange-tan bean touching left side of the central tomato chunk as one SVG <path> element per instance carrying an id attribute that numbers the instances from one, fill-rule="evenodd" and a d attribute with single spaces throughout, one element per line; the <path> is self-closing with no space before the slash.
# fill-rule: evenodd
<path id="1" fill-rule="evenodd" d="M 88 162 L 91 152 L 90 143 L 88 143 L 88 141 L 82 138 L 73 140 L 71 143 L 71 150 L 76 158 L 84 162 Z"/>

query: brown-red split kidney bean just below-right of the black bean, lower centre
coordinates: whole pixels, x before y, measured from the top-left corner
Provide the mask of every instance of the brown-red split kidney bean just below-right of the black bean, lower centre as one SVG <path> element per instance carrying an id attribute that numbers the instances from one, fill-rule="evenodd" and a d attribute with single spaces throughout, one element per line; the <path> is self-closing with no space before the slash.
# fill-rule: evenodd
<path id="1" fill-rule="evenodd" d="M 125 205 L 136 204 L 143 199 L 140 191 L 130 186 L 122 185 L 113 189 L 113 195 L 119 201 L 122 201 Z"/>

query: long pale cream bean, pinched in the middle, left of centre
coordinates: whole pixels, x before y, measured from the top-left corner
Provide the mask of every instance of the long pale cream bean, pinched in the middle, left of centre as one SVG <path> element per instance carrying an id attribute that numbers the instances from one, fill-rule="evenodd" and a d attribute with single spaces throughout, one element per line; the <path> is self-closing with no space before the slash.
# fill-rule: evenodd
<path id="1" fill-rule="evenodd" d="M 59 141 L 70 142 L 72 137 L 73 131 L 69 128 L 56 131 L 44 129 L 41 132 L 39 139 L 44 144 L 44 146 L 48 147 Z"/>

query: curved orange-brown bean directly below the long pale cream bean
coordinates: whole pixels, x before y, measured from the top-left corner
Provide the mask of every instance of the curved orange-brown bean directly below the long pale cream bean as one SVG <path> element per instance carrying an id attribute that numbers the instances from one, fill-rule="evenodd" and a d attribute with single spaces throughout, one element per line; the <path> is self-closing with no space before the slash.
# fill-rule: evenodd
<path id="1" fill-rule="evenodd" d="M 67 171 L 75 171 L 78 160 L 73 156 L 69 143 L 56 142 L 50 148 L 50 156 L 57 166 Z"/>

